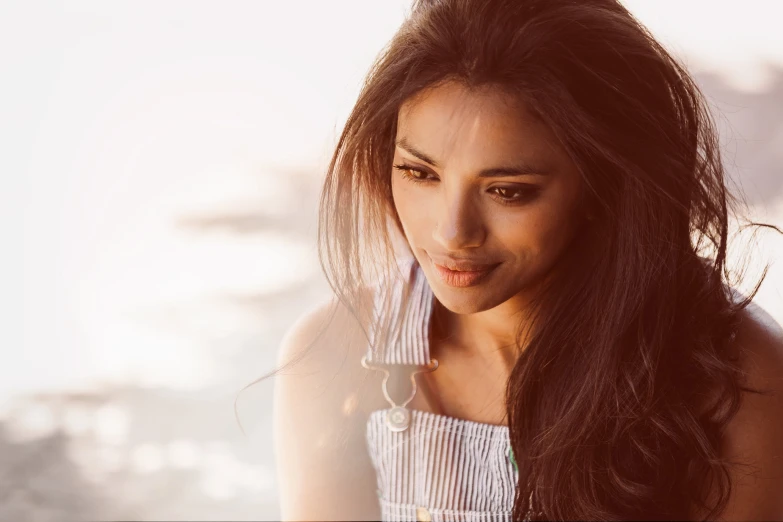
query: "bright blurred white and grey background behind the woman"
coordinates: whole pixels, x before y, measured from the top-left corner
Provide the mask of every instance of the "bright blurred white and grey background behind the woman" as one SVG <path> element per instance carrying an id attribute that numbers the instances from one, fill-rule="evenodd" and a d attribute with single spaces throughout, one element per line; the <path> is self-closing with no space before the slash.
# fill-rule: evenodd
<path id="1" fill-rule="evenodd" d="M 751 217 L 783 226 L 780 4 L 626 5 L 710 98 Z M 324 169 L 408 8 L 0 2 L 0 519 L 279 518 L 274 380 L 239 395 L 246 435 L 234 401 L 328 295 Z M 783 240 L 757 241 L 783 323 Z"/>

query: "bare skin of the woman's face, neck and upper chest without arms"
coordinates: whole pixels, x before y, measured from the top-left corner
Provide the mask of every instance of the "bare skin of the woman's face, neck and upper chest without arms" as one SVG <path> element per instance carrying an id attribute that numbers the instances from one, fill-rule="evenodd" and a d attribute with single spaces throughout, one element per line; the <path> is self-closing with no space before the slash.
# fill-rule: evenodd
<path id="1" fill-rule="evenodd" d="M 552 131 L 498 89 L 448 82 L 413 97 L 398 113 L 395 145 L 395 209 L 437 298 L 430 349 L 440 367 L 417 377 L 422 393 L 411 406 L 507 425 L 515 330 L 584 222 L 584 183 Z M 489 169 L 523 173 L 482 176 Z M 431 256 L 500 264 L 457 288 Z"/>

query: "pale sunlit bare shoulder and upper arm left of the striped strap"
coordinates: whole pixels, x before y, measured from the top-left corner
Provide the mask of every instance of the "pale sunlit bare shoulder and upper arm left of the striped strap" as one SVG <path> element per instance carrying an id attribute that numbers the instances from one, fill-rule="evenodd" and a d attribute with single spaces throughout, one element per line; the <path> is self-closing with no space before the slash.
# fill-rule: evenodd
<path id="1" fill-rule="evenodd" d="M 371 305 L 369 290 L 365 298 L 362 306 Z M 283 520 L 380 516 L 364 438 L 360 318 L 331 299 L 304 313 L 281 343 L 274 432 Z"/>

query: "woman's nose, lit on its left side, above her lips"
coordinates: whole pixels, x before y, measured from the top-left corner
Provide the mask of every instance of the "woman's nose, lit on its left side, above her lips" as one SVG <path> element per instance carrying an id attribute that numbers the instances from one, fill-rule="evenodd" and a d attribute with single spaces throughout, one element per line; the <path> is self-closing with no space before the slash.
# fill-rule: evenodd
<path id="1" fill-rule="evenodd" d="M 481 246 L 486 236 L 480 212 L 470 199 L 442 194 L 432 238 L 444 251 L 458 252 Z"/>

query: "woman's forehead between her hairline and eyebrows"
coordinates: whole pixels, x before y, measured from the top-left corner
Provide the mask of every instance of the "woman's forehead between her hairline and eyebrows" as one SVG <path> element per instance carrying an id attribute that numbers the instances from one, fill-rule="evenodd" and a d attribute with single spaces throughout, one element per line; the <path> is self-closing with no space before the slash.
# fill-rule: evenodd
<path id="1" fill-rule="evenodd" d="M 400 138 L 444 162 L 547 159 L 564 154 L 548 126 L 523 100 L 497 87 L 468 89 L 457 82 L 407 100 L 398 114 Z"/>

